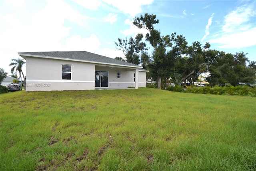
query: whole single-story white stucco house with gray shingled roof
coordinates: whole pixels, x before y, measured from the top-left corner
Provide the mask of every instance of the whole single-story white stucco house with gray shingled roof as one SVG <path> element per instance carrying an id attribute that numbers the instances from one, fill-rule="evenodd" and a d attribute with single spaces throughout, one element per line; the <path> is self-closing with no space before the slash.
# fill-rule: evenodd
<path id="1" fill-rule="evenodd" d="M 21 52 L 26 91 L 146 87 L 142 66 L 86 51 Z"/>

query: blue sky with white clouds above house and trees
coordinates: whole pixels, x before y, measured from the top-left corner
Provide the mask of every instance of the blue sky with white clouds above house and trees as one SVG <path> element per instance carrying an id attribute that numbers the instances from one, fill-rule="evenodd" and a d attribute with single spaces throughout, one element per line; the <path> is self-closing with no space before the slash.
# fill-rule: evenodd
<path id="1" fill-rule="evenodd" d="M 246 52 L 256 61 L 256 0 L 0 0 L 0 68 L 11 74 L 18 52 L 123 57 L 114 42 L 146 34 L 132 24 L 146 12 L 156 15 L 162 36 L 176 32 L 189 45 L 210 42 L 211 49 Z"/>

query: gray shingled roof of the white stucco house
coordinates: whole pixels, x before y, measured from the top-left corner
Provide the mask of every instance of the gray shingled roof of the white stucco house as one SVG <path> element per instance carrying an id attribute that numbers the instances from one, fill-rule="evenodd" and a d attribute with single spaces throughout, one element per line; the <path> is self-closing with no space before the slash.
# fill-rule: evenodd
<path id="1" fill-rule="evenodd" d="M 70 52 L 20 52 L 18 53 L 22 58 L 26 59 L 26 56 L 36 56 L 36 57 L 47 57 L 47 58 L 62 58 L 70 60 L 81 60 L 81 61 L 90 61 L 95 63 L 106 63 L 106 64 L 115 64 L 122 66 L 130 66 L 141 68 L 141 66 L 116 60 L 113 58 L 108 58 L 106 56 L 93 54 L 86 51 L 70 51 Z"/>

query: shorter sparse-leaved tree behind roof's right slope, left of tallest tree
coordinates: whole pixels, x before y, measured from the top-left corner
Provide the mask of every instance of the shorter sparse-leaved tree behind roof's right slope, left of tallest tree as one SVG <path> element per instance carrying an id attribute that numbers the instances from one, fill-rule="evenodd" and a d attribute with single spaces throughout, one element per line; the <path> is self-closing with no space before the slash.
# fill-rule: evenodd
<path id="1" fill-rule="evenodd" d="M 143 34 L 137 34 L 135 38 L 130 37 L 129 40 L 127 38 L 118 38 L 118 42 L 115 42 L 116 49 L 124 53 L 126 62 L 140 64 L 140 52 L 147 50 L 146 44 L 142 42 L 142 38 Z"/>

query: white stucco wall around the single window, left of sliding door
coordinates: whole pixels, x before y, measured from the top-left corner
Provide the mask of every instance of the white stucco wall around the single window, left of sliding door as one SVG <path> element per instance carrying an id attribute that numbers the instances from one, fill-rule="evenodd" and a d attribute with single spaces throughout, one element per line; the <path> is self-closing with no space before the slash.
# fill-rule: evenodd
<path id="1" fill-rule="evenodd" d="M 62 64 L 72 65 L 71 80 L 62 80 Z M 26 91 L 94 89 L 95 65 L 85 62 L 26 58 Z"/>

